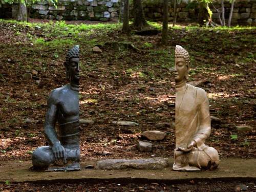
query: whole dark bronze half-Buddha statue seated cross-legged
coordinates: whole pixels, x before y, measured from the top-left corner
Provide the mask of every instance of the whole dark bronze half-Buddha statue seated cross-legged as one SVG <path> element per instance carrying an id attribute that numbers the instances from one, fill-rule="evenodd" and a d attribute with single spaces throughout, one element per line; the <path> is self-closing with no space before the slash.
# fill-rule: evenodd
<path id="1" fill-rule="evenodd" d="M 79 46 L 68 51 L 64 65 L 70 83 L 50 93 L 44 126 L 50 145 L 38 147 L 33 152 L 34 169 L 80 170 Z M 56 122 L 59 135 L 55 130 Z"/>

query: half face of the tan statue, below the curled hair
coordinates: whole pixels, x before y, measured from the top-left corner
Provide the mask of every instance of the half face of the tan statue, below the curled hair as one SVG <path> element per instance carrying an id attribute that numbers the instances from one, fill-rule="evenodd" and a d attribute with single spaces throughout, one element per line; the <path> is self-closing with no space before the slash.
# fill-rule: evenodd
<path id="1" fill-rule="evenodd" d="M 184 58 L 175 58 L 175 82 L 181 82 L 185 80 L 187 73 L 186 61 Z"/>

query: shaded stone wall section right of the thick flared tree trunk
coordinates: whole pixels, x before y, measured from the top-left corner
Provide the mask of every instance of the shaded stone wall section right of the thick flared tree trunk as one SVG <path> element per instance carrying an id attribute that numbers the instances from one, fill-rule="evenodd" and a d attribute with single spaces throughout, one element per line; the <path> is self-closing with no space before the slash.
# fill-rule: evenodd
<path id="1" fill-rule="evenodd" d="M 142 0 L 143 1 L 143 0 Z M 144 0 L 143 8 L 145 16 L 148 20 L 158 21 L 163 18 L 163 7 L 160 0 Z M 219 2 L 214 3 L 218 9 L 221 7 Z M 225 18 L 228 20 L 231 4 L 229 1 L 225 2 Z M 177 21 L 178 22 L 192 22 L 197 21 L 199 7 L 198 5 L 188 5 L 181 3 L 177 6 Z M 212 19 L 219 23 L 219 16 L 213 6 L 210 5 L 212 11 Z M 169 3 L 169 22 L 174 19 L 174 4 L 173 0 Z M 226 22 L 227 23 L 227 22 Z M 232 25 L 256 25 L 256 0 L 236 0 L 233 9 Z"/>

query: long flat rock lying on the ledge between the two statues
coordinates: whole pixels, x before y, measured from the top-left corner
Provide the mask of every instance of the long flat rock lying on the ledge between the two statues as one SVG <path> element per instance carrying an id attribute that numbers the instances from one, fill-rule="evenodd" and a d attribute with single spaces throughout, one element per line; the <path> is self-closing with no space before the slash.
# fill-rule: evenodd
<path id="1" fill-rule="evenodd" d="M 96 163 L 97 169 L 163 169 L 168 166 L 167 158 L 150 159 L 106 159 Z"/>

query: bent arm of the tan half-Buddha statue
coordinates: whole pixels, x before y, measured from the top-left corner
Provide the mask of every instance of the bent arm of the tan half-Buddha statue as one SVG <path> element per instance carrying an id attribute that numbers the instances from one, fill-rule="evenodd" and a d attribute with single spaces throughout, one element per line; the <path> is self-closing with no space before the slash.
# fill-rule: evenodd
<path id="1" fill-rule="evenodd" d="M 198 88 L 199 89 L 199 88 Z M 197 147 L 204 144 L 205 140 L 210 135 L 210 112 L 209 112 L 209 100 L 207 98 L 206 92 L 203 89 L 198 90 L 199 101 L 202 101 L 199 105 L 199 129 L 197 134 L 194 136 L 194 141 Z"/>

